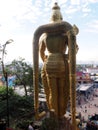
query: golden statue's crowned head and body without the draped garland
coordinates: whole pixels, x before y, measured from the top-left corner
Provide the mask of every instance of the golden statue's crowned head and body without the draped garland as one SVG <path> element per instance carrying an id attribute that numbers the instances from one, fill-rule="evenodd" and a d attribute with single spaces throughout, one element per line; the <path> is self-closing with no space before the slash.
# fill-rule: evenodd
<path id="1" fill-rule="evenodd" d="M 52 8 L 51 23 L 63 20 L 57 3 Z M 68 36 L 60 32 L 43 33 L 39 39 L 39 52 L 43 61 L 42 83 L 47 106 L 58 118 L 66 113 L 69 101 Z M 78 46 L 77 46 L 78 48 Z M 46 54 L 46 50 L 48 53 Z"/>

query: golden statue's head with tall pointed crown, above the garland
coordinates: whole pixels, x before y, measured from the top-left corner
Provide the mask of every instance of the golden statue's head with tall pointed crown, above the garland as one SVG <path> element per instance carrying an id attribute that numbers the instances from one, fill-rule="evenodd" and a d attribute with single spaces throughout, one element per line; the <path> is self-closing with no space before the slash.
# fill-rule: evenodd
<path id="1" fill-rule="evenodd" d="M 52 7 L 52 14 L 50 18 L 50 22 L 61 22 L 63 20 L 62 14 L 60 12 L 60 7 L 58 6 L 57 3 L 54 3 Z"/>

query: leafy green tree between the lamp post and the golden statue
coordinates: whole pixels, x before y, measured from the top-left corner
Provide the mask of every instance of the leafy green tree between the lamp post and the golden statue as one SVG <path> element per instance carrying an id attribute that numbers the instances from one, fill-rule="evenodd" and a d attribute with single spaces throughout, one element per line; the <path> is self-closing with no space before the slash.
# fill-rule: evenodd
<path id="1" fill-rule="evenodd" d="M 25 62 L 25 59 L 19 58 L 13 60 L 11 64 L 6 66 L 8 74 L 16 76 L 15 84 L 23 85 L 25 95 L 27 96 L 27 86 L 33 89 L 33 68 Z"/>

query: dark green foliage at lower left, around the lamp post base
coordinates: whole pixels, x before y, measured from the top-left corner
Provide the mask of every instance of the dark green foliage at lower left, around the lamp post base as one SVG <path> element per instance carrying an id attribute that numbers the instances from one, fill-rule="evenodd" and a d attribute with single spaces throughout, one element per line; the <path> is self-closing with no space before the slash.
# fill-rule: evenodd
<path id="1" fill-rule="evenodd" d="M 32 96 L 20 96 L 9 88 L 9 117 L 10 122 L 18 122 L 24 119 L 34 118 L 34 101 Z M 6 87 L 0 87 L 0 117 L 6 119 L 7 99 Z"/>

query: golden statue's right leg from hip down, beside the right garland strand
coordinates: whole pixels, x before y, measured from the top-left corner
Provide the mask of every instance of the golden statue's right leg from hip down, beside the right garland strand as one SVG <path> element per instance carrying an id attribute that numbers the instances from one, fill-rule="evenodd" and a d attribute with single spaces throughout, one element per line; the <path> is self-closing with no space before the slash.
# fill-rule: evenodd
<path id="1" fill-rule="evenodd" d="M 61 77 L 58 81 L 58 92 L 59 92 L 59 117 L 62 117 L 67 110 L 69 102 L 69 93 L 70 93 L 70 83 L 69 83 L 69 64 L 68 60 L 65 59 L 65 72 L 61 73 Z"/>

